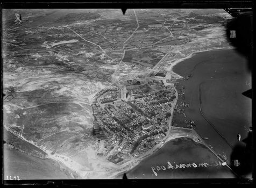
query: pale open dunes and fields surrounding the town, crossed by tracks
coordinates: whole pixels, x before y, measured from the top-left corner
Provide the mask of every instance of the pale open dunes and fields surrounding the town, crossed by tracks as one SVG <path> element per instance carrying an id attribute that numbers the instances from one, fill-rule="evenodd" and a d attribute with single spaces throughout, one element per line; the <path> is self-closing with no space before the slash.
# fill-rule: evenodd
<path id="1" fill-rule="evenodd" d="M 143 82 L 152 69 L 169 71 L 191 52 L 229 46 L 226 15 L 187 9 L 129 9 L 125 15 L 113 9 L 3 10 L 6 145 L 59 159 L 79 178 L 110 177 L 118 167 L 97 155 L 103 148 L 92 134 L 95 95 L 129 79 Z M 199 22 L 202 30 L 195 29 Z"/>

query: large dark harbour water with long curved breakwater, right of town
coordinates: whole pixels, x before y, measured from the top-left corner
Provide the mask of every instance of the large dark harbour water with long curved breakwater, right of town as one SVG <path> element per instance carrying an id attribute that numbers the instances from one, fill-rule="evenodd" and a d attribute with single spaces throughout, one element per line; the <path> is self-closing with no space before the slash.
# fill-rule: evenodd
<path id="1" fill-rule="evenodd" d="M 195 130 L 227 161 L 232 150 L 247 138 L 248 129 L 252 126 L 252 100 L 242 93 L 252 88 L 251 71 L 247 59 L 234 49 L 219 49 L 196 53 L 190 59 L 178 63 L 173 71 L 189 79 L 179 81 L 176 89 L 185 87 L 184 100 L 180 97 L 177 103 L 187 102 L 186 118 L 176 115 L 173 123 L 183 126 L 183 120 L 194 120 Z M 199 86 L 201 88 L 201 107 L 207 120 L 215 126 L 225 140 L 203 118 L 199 109 Z"/>

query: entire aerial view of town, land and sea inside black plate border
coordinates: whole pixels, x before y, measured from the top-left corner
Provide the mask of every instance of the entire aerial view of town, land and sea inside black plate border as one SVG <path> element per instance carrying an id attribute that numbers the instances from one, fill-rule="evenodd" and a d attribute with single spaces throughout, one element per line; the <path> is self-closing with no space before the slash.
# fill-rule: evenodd
<path id="1" fill-rule="evenodd" d="M 232 19 L 2 9 L 4 180 L 252 178 L 252 74 Z"/>

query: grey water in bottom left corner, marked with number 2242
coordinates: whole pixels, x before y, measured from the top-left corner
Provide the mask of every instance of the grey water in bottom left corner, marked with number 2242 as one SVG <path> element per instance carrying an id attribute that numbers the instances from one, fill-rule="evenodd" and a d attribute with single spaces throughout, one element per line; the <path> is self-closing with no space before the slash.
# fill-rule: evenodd
<path id="1" fill-rule="evenodd" d="M 73 179 L 65 167 L 51 159 L 27 155 L 4 147 L 3 179 Z"/>

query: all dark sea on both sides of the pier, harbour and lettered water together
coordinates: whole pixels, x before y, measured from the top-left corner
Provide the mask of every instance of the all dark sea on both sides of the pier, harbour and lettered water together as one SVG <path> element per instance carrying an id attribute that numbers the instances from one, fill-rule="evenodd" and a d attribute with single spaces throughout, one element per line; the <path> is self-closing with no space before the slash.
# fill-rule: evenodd
<path id="1" fill-rule="evenodd" d="M 177 90 L 185 88 L 184 99 L 178 98 L 177 104 L 190 104 L 184 115 L 176 115 L 173 124 L 184 127 L 184 119 L 194 120 L 195 131 L 222 158 L 230 163 L 233 147 L 243 142 L 252 123 L 251 99 L 242 95 L 251 89 L 251 71 L 247 60 L 234 49 L 218 49 L 195 53 L 174 66 L 173 71 L 188 79 L 180 79 Z M 199 110 L 199 86 L 201 86 L 202 111 Z M 237 140 L 237 134 L 241 141 Z M 228 142 L 228 143 L 227 143 Z M 230 146 L 231 144 L 231 146 Z M 169 163 L 168 163 L 169 162 Z M 196 168 L 186 164 L 195 164 Z M 200 163 L 208 163 L 207 167 Z M 136 167 L 127 172 L 127 178 L 234 178 L 233 173 L 219 163 L 218 158 L 200 143 L 188 138 L 170 140 L 157 153 L 145 158 Z M 170 168 L 173 167 L 182 168 Z M 163 167 L 161 167 L 163 166 Z M 169 168 L 168 168 L 169 167 Z M 165 170 L 164 170 L 165 169 Z M 156 176 L 156 173 L 157 176 Z"/>

